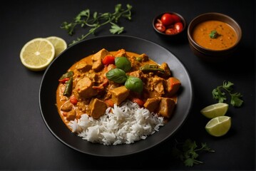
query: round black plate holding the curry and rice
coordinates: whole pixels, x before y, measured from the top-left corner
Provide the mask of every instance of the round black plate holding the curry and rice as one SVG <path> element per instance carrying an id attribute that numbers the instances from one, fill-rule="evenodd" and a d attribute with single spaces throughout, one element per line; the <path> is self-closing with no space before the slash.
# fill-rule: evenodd
<path id="1" fill-rule="evenodd" d="M 124 48 L 126 51 L 135 53 L 146 53 L 150 58 L 158 63 L 166 62 L 170 66 L 173 76 L 177 77 L 182 88 L 178 95 L 178 104 L 175 108 L 173 118 L 160 127 L 159 132 L 148 136 L 145 140 L 140 140 L 130 145 L 101 145 L 82 140 L 75 133 L 71 133 L 58 115 L 56 108 L 56 89 L 58 78 L 66 73 L 73 63 L 88 55 L 106 48 L 108 51 L 117 51 Z M 43 75 L 39 90 L 39 105 L 41 115 L 47 128 L 63 144 L 79 152 L 88 155 L 116 157 L 131 155 L 142 152 L 150 147 L 160 144 L 170 138 L 180 126 L 185 123 L 185 119 L 190 112 L 193 101 L 193 87 L 190 76 L 185 66 L 176 58 L 173 53 L 159 46 L 157 43 L 147 41 L 143 38 L 133 36 L 102 36 L 81 41 L 68 47 L 48 66 Z"/>

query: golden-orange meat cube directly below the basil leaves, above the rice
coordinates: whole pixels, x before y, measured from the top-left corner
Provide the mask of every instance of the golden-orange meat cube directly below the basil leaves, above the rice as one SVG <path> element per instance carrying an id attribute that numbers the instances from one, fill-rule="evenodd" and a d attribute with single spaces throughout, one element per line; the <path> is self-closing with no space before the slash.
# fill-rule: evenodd
<path id="1" fill-rule="evenodd" d="M 118 88 L 114 88 L 111 90 L 111 100 L 116 105 L 120 105 L 126 98 L 128 97 L 130 90 L 126 88 L 126 86 L 121 86 Z"/>

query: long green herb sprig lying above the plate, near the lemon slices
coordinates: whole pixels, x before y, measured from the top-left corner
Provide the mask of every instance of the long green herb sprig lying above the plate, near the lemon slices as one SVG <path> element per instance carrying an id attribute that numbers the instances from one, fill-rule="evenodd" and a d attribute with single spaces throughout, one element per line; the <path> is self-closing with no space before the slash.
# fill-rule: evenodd
<path id="1" fill-rule="evenodd" d="M 124 28 L 122 26 L 118 26 L 118 21 L 119 19 L 121 19 L 121 17 L 130 20 L 131 9 L 133 8 L 133 6 L 130 6 L 130 4 L 127 4 L 126 7 L 127 9 L 123 9 L 122 4 L 117 4 L 115 6 L 115 12 L 113 13 L 98 13 L 95 11 L 92 15 L 90 9 L 85 9 L 81 11 L 70 23 L 64 21 L 61 24 L 61 28 L 65 29 L 70 36 L 75 33 L 75 28 L 77 26 L 81 26 L 82 28 L 90 28 L 88 33 L 72 41 L 69 46 L 73 43 L 77 43 L 78 41 L 82 41 L 90 34 L 94 34 L 98 28 L 106 24 L 111 24 L 111 29 L 109 30 L 111 33 L 122 33 L 124 31 Z"/>

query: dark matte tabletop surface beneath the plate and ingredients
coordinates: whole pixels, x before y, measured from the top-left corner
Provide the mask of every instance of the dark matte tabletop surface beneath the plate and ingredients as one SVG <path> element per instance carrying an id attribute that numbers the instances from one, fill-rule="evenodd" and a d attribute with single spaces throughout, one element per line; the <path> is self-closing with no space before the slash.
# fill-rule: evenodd
<path id="1" fill-rule="evenodd" d="M 194 87 L 194 103 L 188 119 L 173 138 L 150 150 L 127 157 L 92 157 L 59 142 L 48 130 L 39 110 L 39 87 L 43 72 L 28 71 L 19 53 L 32 38 L 60 36 L 67 43 L 80 36 L 68 36 L 60 28 L 83 9 L 113 11 L 118 3 L 133 6 L 132 21 L 121 20 L 123 35 L 138 36 L 171 51 L 188 68 Z M 189 23 L 205 12 L 231 16 L 242 28 L 242 41 L 230 61 L 211 64 L 196 57 L 186 36 L 163 40 L 152 28 L 152 19 L 163 11 L 175 11 Z M 1 6 L 1 170 L 255 170 L 255 2 L 254 1 L 6 1 Z M 106 36 L 109 26 L 96 36 Z M 89 36 L 92 38 L 93 36 Z M 223 81 L 235 83 L 245 100 L 242 108 L 230 106 L 232 128 L 213 138 L 205 132 L 208 122 L 200 109 L 216 103 L 211 92 Z M 202 165 L 185 167 L 169 157 L 173 140 L 187 138 L 207 142 L 215 152 L 200 153 Z"/>

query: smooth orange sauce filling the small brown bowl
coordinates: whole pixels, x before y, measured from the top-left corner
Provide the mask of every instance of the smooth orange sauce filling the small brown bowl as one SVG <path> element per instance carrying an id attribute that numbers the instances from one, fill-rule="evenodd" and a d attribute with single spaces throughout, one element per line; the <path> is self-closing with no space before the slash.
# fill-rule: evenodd
<path id="1" fill-rule="evenodd" d="M 210 37 L 212 31 L 217 31 L 215 38 Z M 203 21 L 193 29 L 193 40 L 204 48 L 224 50 L 235 45 L 237 33 L 229 24 L 222 21 Z"/>

